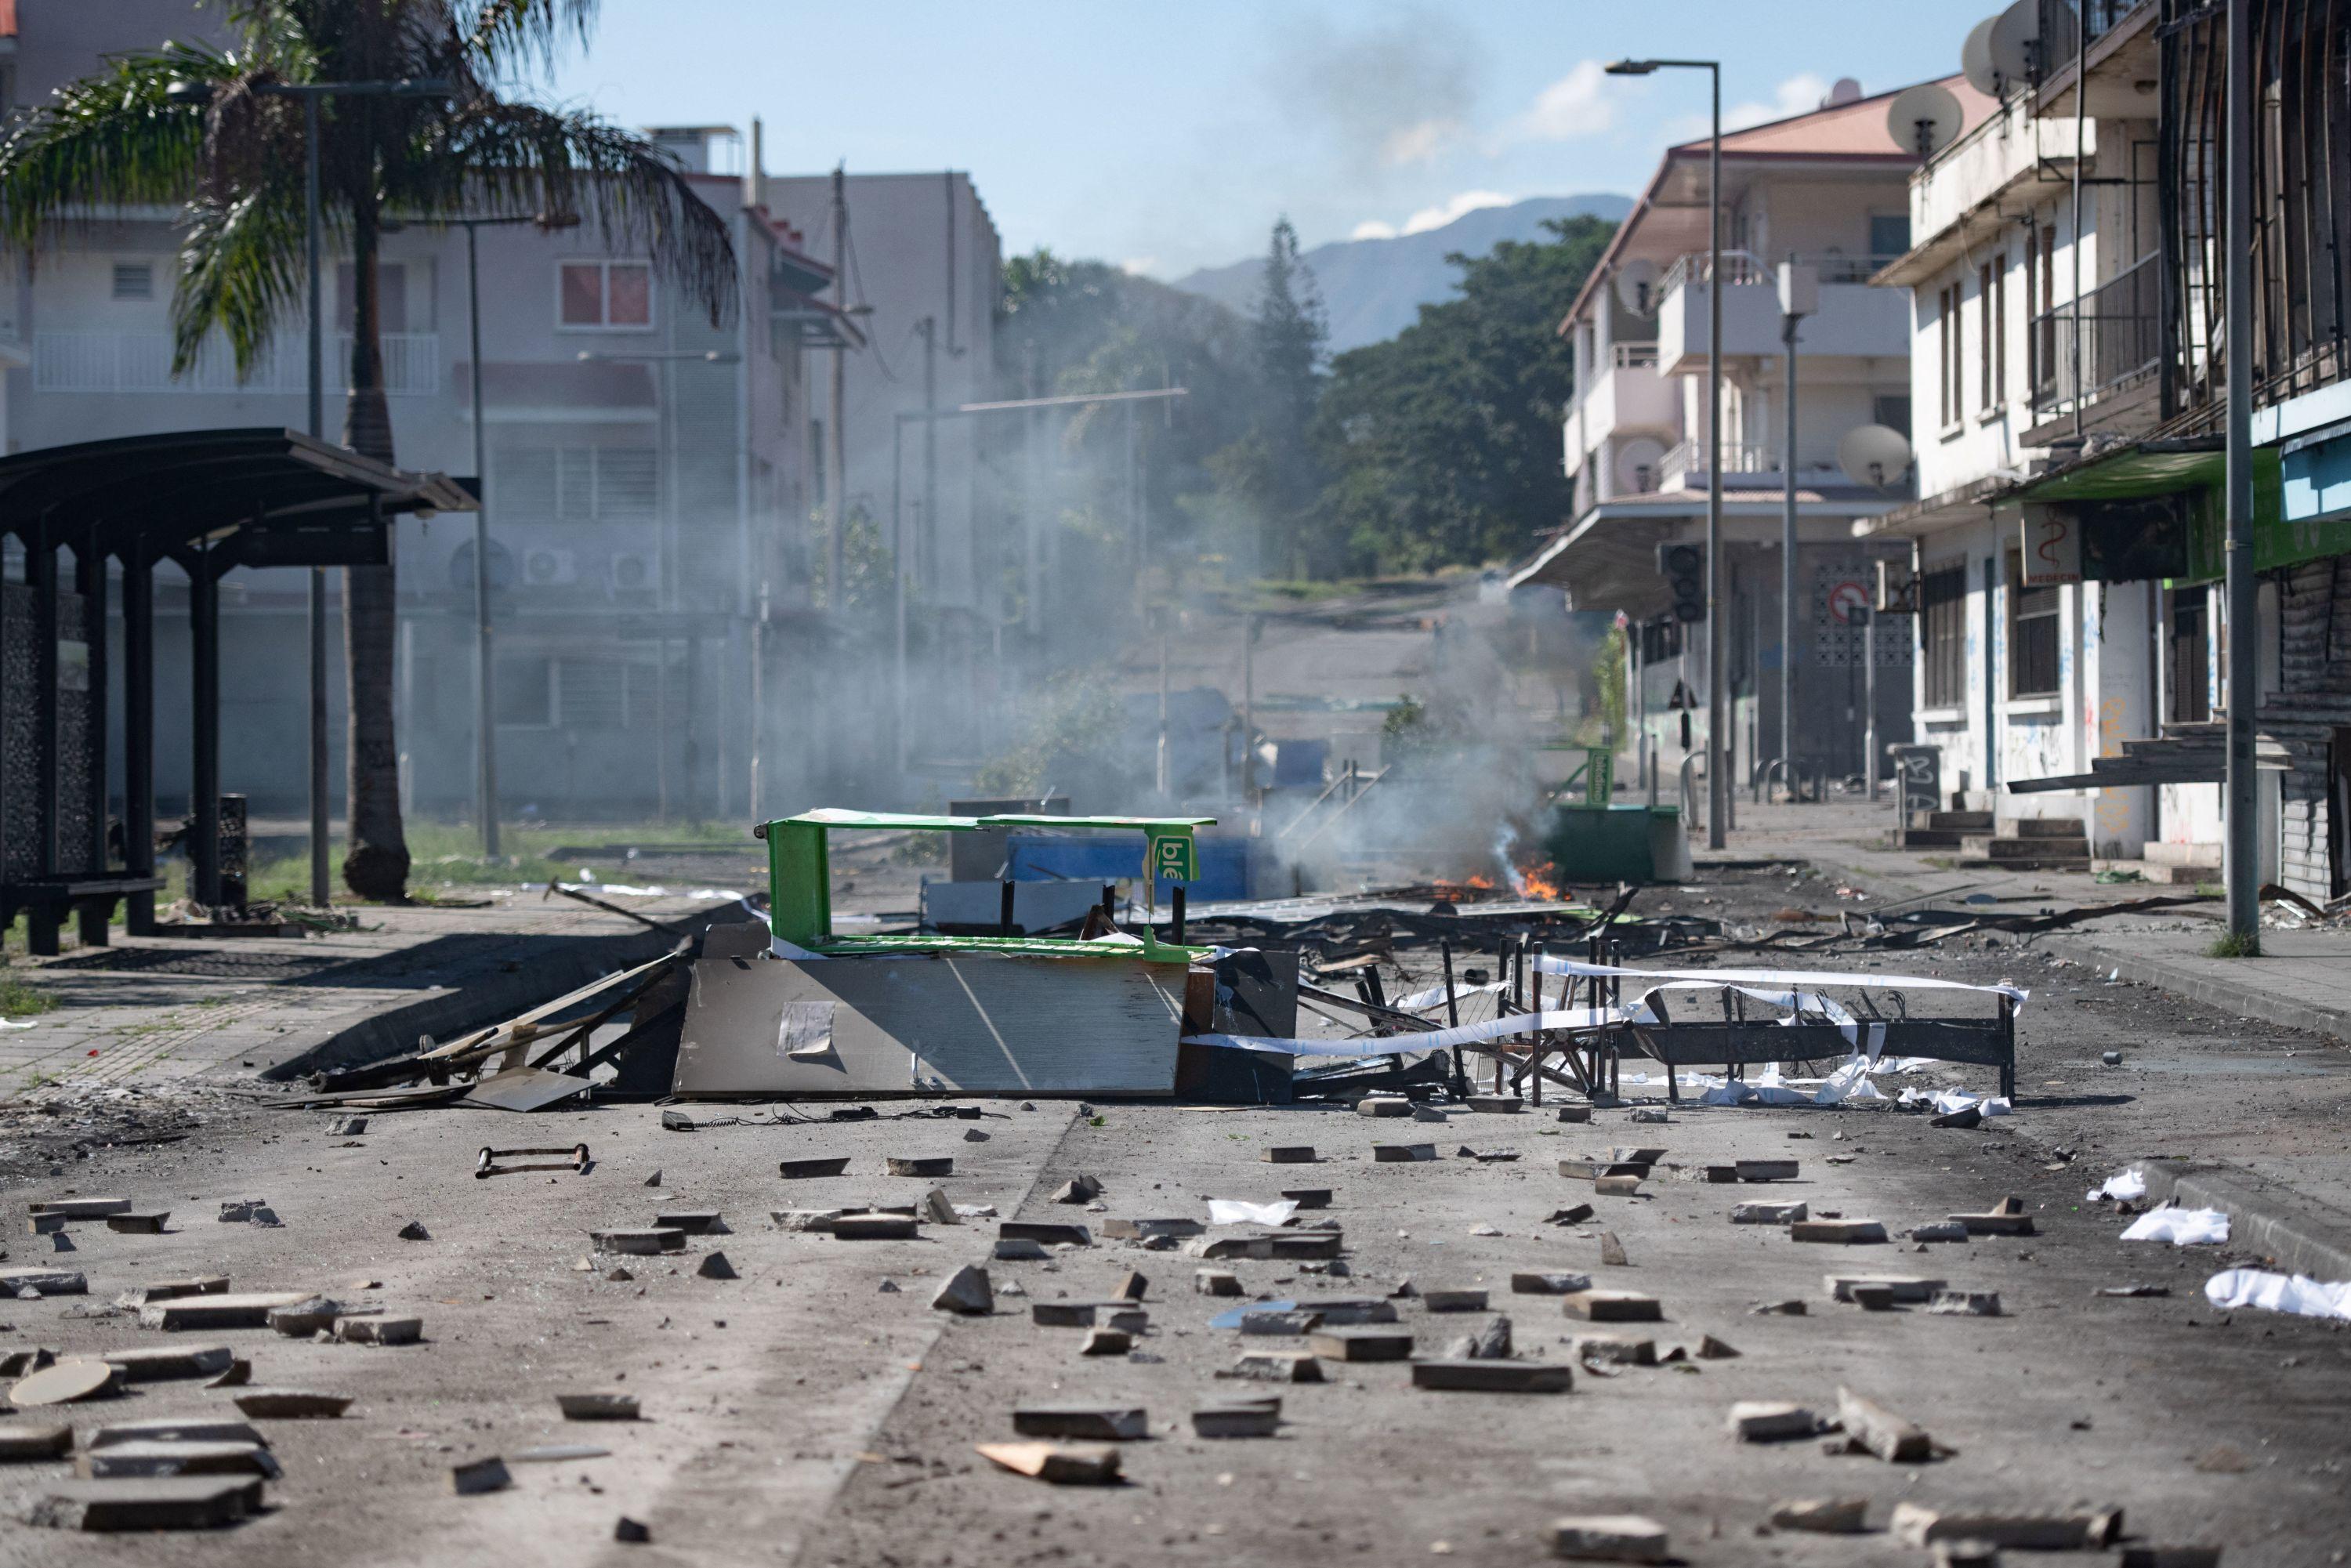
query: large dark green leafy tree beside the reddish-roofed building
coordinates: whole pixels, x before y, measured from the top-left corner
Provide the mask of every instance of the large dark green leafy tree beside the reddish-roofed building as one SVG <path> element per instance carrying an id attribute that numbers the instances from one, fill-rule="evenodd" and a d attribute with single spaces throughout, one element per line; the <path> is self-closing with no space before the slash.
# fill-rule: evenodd
<path id="1" fill-rule="evenodd" d="M 1458 299 L 1333 362 L 1314 414 L 1331 470 L 1314 517 L 1326 557 L 1354 571 L 1481 564 L 1519 555 L 1566 515 L 1559 421 L 1575 364 L 1559 320 L 1613 223 L 1545 228 L 1549 240 L 1448 256 Z"/>

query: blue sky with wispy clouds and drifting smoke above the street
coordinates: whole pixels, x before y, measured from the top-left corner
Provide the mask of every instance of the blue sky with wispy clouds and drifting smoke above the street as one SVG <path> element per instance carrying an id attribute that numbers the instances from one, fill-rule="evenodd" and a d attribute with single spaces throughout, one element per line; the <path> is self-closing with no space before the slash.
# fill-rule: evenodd
<path id="1" fill-rule="evenodd" d="M 771 172 L 969 169 L 1006 252 L 1157 277 L 1234 261 L 1291 214 L 1307 244 L 1472 205 L 1639 190 L 1726 120 L 1958 68 L 1991 0 L 607 0 L 548 89 L 632 125 L 766 125 Z"/>

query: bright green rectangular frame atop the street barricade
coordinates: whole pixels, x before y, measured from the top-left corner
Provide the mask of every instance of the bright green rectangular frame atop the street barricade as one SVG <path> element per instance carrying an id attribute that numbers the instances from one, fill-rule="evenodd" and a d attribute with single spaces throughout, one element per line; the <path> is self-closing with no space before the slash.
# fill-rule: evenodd
<path id="1" fill-rule="evenodd" d="M 1190 961 L 1206 947 L 1173 947 L 1150 931 L 1136 947 L 1121 943 L 1077 943 L 1044 936 L 835 936 L 832 933 L 832 853 L 828 835 L 837 827 L 898 832 L 976 832 L 980 827 L 1110 827 L 1140 832 L 1145 842 L 1194 837 L 1213 827 L 1213 816 L 929 816 L 915 811 L 844 811 L 823 806 L 799 816 L 759 823 L 752 835 L 766 839 L 769 926 L 795 947 L 828 954 L 882 952 L 1018 952 L 1032 957 L 1140 957 L 1150 961 Z M 1143 872 L 1143 865 L 1136 865 Z"/>

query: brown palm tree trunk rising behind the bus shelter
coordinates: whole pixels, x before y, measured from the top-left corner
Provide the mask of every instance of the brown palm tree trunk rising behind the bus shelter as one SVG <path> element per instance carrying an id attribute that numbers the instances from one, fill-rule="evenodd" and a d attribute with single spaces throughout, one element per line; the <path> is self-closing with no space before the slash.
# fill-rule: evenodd
<path id="1" fill-rule="evenodd" d="M 393 461 L 393 411 L 383 400 L 383 324 L 376 292 L 379 214 L 357 202 L 353 214 L 350 400 L 343 404 L 343 444 L 381 463 Z M 350 672 L 348 806 L 350 849 L 343 884 L 360 898 L 400 903 L 409 893 L 409 842 L 400 825 L 400 736 L 393 717 L 393 644 L 400 595 L 390 562 L 343 569 L 343 646 Z"/>

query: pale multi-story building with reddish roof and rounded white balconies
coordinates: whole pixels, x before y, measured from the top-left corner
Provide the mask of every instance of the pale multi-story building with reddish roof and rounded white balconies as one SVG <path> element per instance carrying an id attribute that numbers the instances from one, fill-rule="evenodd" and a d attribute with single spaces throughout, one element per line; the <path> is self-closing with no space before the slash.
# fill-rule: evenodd
<path id="1" fill-rule="evenodd" d="M 1968 122 L 1991 101 L 1944 85 Z M 1730 132 L 1723 162 L 1721 515 L 1733 783 L 1780 755 L 1782 658 L 1794 656 L 1794 757 L 1801 776 L 1864 773 L 1862 712 L 1871 644 L 1881 738 L 1907 733 L 1909 639 L 1871 639 L 1874 548 L 1855 527 L 1904 501 L 1897 461 L 1846 473 L 1862 425 L 1914 425 L 1909 320 L 1869 277 L 1909 249 L 1904 181 L 1916 148 L 1888 127 L 1890 94 L 1838 82 L 1815 113 Z M 1512 583 L 1556 583 L 1575 609 L 1617 609 L 1634 625 L 1629 708 L 1643 766 L 1704 752 L 1704 625 L 1672 609 L 1657 545 L 1702 543 L 1707 520 L 1707 141 L 1669 148 L 1617 228 L 1561 331 L 1575 343 L 1566 414 L 1573 515 Z M 1780 263 L 1817 277 L 1799 317 L 1796 451 L 1787 468 L 1787 371 Z M 1780 637 L 1780 541 L 1787 491 L 1799 512 L 1796 646 Z"/>

